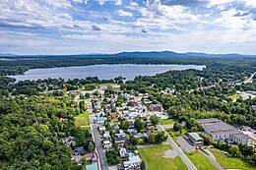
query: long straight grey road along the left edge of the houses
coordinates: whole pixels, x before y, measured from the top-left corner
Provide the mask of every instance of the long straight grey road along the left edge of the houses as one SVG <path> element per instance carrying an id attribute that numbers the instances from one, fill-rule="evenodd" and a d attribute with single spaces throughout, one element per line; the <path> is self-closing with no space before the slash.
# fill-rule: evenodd
<path id="1" fill-rule="evenodd" d="M 99 170 L 109 170 L 108 169 L 108 164 L 107 164 L 106 158 L 105 158 L 105 153 L 104 153 L 104 150 L 102 148 L 100 138 L 98 136 L 97 125 L 94 123 L 94 117 L 95 116 L 94 116 L 94 113 L 93 113 L 93 109 L 92 109 L 90 100 L 88 101 L 87 105 L 88 105 L 89 113 L 90 113 L 91 130 L 92 130 L 92 133 L 93 133 L 94 141 L 96 142 L 96 153 L 97 153 L 97 156 L 98 156 Z"/>

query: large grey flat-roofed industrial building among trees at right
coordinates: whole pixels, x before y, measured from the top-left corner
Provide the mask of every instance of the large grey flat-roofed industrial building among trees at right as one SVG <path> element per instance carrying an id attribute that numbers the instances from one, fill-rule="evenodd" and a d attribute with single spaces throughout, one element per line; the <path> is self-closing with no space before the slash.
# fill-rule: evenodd
<path id="1" fill-rule="evenodd" d="M 252 139 L 217 118 L 199 119 L 197 122 L 204 128 L 205 134 L 212 141 L 232 140 L 241 144 L 252 144 Z"/>

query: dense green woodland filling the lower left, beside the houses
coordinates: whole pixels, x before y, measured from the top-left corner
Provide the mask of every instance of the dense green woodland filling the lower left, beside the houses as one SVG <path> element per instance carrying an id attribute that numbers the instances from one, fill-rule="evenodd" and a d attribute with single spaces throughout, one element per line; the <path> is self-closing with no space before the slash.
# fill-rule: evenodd
<path id="1" fill-rule="evenodd" d="M 80 111 L 67 97 L 1 98 L 0 110 L 0 169 L 69 169 L 71 147 L 61 137 L 91 136 L 74 127 Z"/>

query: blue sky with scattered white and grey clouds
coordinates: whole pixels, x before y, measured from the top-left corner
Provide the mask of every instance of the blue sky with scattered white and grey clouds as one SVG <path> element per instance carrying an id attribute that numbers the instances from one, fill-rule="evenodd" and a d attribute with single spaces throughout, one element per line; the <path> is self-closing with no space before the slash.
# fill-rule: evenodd
<path id="1" fill-rule="evenodd" d="M 256 0 L 1 0 L 0 53 L 256 54 Z"/>

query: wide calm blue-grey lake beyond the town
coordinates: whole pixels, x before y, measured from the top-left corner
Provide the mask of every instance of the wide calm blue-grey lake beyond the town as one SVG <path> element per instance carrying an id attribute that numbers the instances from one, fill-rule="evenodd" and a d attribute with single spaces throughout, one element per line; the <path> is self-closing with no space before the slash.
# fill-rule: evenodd
<path id="1" fill-rule="evenodd" d="M 48 69 L 32 69 L 25 75 L 13 76 L 17 81 L 38 79 L 85 79 L 96 76 L 100 80 L 114 79 L 118 76 L 133 80 L 136 76 L 154 76 L 169 70 L 202 70 L 205 66 L 194 65 L 92 65 L 79 67 L 61 67 Z"/>

